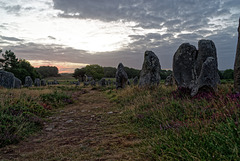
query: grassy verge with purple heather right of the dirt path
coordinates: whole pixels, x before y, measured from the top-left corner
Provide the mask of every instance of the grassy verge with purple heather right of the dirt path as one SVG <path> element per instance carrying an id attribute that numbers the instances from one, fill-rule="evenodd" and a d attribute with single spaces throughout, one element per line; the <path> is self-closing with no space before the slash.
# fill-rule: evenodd
<path id="1" fill-rule="evenodd" d="M 153 160 L 239 160 L 240 95 L 224 84 L 195 97 L 176 87 L 108 90 Z"/>

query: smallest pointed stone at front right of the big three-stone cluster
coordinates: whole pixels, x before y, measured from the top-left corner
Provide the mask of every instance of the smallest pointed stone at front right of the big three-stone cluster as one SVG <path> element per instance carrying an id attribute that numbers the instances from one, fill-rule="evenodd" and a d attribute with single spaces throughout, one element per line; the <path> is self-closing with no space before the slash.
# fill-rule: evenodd
<path id="1" fill-rule="evenodd" d="M 219 82 L 217 60 L 213 57 L 208 57 L 202 65 L 201 73 L 195 86 L 192 88 L 191 96 L 195 96 L 202 87 L 205 87 L 204 90 L 216 91 Z"/>

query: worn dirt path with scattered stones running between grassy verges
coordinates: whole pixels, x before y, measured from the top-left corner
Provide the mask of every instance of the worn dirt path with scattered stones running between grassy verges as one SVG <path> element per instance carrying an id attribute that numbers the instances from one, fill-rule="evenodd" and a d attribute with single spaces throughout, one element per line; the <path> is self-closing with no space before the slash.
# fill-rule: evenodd
<path id="1" fill-rule="evenodd" d="M 0 160 L 142 160 L 140 141 L 120 113 L 102 92 L 88 90 L 49 117 L 39 134 L 0 149 Z"/>

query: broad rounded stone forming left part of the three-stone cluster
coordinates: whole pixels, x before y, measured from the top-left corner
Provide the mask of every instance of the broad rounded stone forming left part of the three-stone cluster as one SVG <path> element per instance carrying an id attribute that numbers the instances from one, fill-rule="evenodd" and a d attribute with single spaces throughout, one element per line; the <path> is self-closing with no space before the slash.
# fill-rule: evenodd
<path id="1" fill-rule="evenodd" d="M 197 49 L 189 43 L 182 44 L 173 57 L 173 76 L 180 88 L 191 89 L 196 75 L 194 71 Z"/>

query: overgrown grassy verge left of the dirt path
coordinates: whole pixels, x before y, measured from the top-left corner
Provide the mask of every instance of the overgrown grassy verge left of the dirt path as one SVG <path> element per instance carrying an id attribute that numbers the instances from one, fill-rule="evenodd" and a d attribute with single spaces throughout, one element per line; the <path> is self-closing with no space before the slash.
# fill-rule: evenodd
<path id="1" fill-rule="evenodd" d="M 70 103 L 70 93 L 59 89 L 1 89 L 0 147 L 18 143 L 37 132 L 53 109 Z"/>

